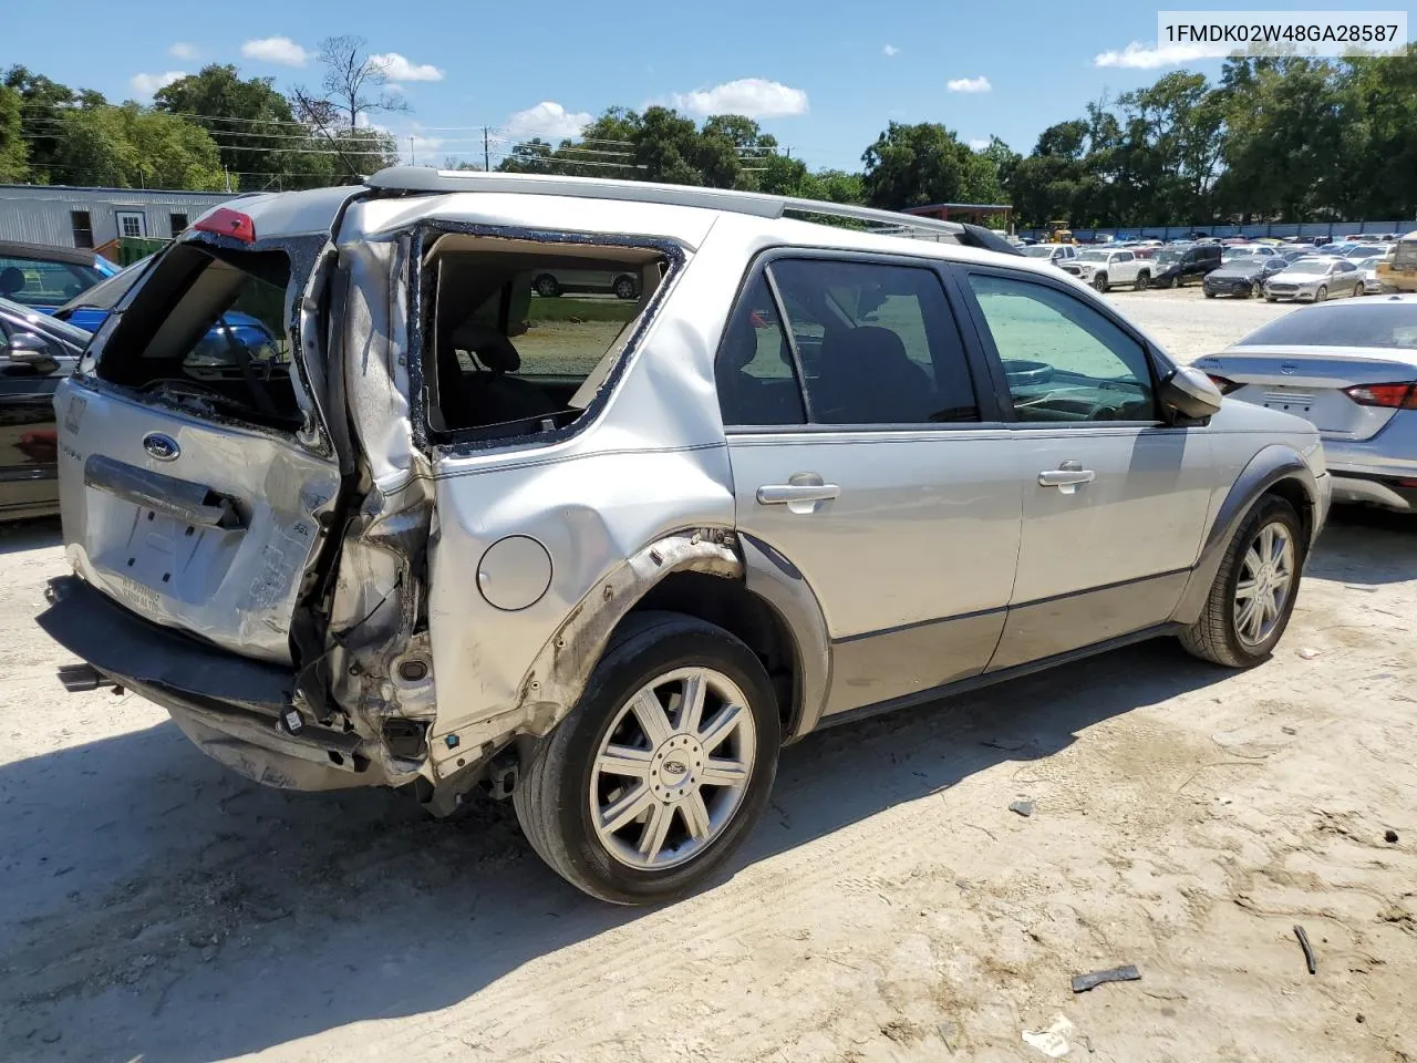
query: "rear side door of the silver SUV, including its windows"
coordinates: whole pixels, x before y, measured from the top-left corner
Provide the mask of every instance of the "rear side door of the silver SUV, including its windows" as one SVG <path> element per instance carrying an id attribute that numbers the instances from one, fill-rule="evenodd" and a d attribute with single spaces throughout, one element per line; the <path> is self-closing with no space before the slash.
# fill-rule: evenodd
<path id="1" fill-rule="evenodd" d="M 737 524 L 822 604 L 826 713 L 976 675 L 998 645 L 1022 488 L 981 370 L 927 265 L 778 257 L 730 319 Z"/>

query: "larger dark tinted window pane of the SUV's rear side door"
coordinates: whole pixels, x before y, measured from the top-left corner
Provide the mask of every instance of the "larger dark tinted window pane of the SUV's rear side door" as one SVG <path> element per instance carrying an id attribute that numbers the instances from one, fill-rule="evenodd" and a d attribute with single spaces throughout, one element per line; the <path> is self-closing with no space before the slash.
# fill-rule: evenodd
<path id="1" fill-rule="evenodd" d="M 932 271 L 812 259 L 771 269 L 813 422 L 979 420 L 959 329 Z"/>

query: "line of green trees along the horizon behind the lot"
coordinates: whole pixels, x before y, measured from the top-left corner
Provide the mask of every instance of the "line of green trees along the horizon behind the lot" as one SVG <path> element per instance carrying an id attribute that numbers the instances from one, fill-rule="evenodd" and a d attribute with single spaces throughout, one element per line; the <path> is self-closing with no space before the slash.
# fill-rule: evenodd
<path id="1" fill-rule="evenodd" d="M 363 41 L 322 44 L 322 91 L 279 92 L 210 65 L 150 106 L 109 103 L 13 67 L 0 86 L 0 180 L 300 189 L 397 162 L 370 116 L 384 91 Z M 1417 47 L 1399 58 L 1234 58 L 1175 71 L 1044 129 L 1023 156 L 938 122 L 890 122 L 857 171 L 812 169 L 757 122 L 611 108 L 575 137 L 529 137 L 497 170 L 628 177 L 901 208 L 1012 203 L 1022 225 L 1417 217 Z M 449 167 L 470 167 L 448 162 Z M 480 169 L 480 167 L 478 167 Z"/>

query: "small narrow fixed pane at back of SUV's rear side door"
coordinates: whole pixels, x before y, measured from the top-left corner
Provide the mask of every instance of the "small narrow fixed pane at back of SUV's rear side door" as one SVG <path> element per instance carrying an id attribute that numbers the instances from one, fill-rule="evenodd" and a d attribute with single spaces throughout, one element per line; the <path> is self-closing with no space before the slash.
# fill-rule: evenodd
<path id="1" fill-rule="evenodd" d="M 806 421 L 792 350 L 762 274 L 752 279 L 728 319 L 714 377 L 726 425 Z"/>

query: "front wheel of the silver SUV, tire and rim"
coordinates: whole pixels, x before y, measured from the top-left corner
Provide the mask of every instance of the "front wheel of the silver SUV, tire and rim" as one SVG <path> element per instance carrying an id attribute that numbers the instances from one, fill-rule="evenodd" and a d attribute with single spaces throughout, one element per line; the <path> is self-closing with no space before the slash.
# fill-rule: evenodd
<path id="1" fill-rule="evenodd" d="M 1294 614 L 1304 556 L 1299 514 L 1265 495 L 1226 550 L 1200 618 L 1180 632 L 1180 645 L 1227 668 L 1265 660 Z"/>

